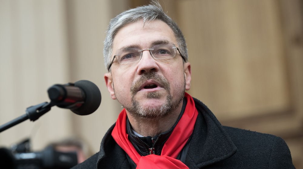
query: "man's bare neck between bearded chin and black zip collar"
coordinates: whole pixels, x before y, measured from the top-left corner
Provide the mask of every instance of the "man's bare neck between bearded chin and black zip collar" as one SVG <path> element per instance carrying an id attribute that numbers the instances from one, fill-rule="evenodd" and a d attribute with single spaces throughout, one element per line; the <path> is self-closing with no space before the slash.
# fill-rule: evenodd
<path id="1" fill-rule="evenodd" d="M 138 117 L 133 116 L 131 113 L 126 111 L 128 120 L 132 126 L 132 129 L 142 136 L 156 136 L 162 132 L 168 131 L 178 120 L 181 113 L 183 102 L 178 105 L 178 107 L 168 113 L 164 117 Z M 143 125 L 142 125 L 143 124 Z"/>

